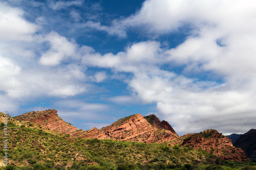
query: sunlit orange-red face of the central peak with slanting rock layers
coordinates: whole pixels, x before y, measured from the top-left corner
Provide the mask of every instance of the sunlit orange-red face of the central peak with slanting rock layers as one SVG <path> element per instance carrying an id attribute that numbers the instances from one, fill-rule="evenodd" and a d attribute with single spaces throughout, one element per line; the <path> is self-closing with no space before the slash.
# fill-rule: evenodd
<path id="1" fill-rule="evenodd" d="M 169 124 L 167 123 L 166 127 L 170 128 L 170 125 L 168 125 Z M 162 128 L 162 126 L 163 125 L 151 125 L 142 115 L 135 114 L 120 119 L 110 126 L 106 126 L 101 129 L 94 127 L 86 132 L 73 134 L 73 136 L 79 138 L 113 139 L 145 143 L 160 143 L 167 139 L 178 137 L 173 129 L 174 133 Z"/>

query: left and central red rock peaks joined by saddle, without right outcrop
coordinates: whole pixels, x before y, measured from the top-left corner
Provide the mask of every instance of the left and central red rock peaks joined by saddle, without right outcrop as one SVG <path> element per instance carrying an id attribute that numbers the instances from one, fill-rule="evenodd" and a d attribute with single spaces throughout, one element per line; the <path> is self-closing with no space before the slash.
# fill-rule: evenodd
<path id="1" fill-rule="evenodd" d="M 151 115 L 150 117 L 154 117 L 156 122 L 160 122 L 156 116 Z M 32 121 L 51 130 L 57 130 L 65 134 L 70 134 L 71 137 L 77 138 L 97 138 L 137 141 L 145 143 L 162 143 L 163 140 L 178 137 L 168 122 L 162 121 L 160 124 L 150 124 L 140 114 L 125 117 L 119 121 L 114 122 L 112 125 L 103 127 L 101 129 L 94 127 L 87 131 L 83 129 L 79 130 L 73 125 L 63 121 L 58 116 L 57 110 L 54 109 L 29 112 L 20 116 L 15 116 L 14 119 Z"/>

